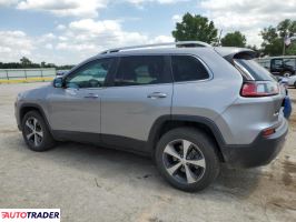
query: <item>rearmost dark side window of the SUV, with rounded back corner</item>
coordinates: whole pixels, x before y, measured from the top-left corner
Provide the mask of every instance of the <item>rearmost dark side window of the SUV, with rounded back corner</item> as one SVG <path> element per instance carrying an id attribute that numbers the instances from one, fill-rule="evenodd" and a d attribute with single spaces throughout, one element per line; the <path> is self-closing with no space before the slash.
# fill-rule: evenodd
<path id="1" fill-rule="evenodd" d="M 171 57 L 172 75 L 175 82 L 208 79 L 209 74 L 204 64 L 190 56 Z"/>

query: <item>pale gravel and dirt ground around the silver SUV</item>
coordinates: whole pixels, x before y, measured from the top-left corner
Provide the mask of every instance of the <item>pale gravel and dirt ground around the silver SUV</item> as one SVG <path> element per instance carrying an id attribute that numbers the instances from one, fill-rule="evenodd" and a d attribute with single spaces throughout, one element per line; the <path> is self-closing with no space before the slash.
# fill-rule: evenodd
<path id="1" fill-rule="evenodd" d="M 60 208 L 62 221 L 296 221 L 296 111 L 269 165 L 223 167 L 199 193 L 170 188 L 149 159 L 62 143 L 28 150 L 13 117 L 17 93 L 45 83 L 0 85 L 0 208 Z M 296 105 L 296 89 L 290 89 Z M 296 107 L 295 107 L 296 109 Z"/>

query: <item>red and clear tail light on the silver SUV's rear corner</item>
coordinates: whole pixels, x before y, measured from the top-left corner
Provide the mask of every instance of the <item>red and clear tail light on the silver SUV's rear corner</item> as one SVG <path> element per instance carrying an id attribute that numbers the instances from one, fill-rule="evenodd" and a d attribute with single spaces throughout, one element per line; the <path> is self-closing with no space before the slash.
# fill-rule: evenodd
<path id="1" fill-rule="evenodd" d="M 279 93 L 279 85 L 272 81 L 249 81 L 244 82 L 240 95 L 241 97 L 269 97 Z"/>

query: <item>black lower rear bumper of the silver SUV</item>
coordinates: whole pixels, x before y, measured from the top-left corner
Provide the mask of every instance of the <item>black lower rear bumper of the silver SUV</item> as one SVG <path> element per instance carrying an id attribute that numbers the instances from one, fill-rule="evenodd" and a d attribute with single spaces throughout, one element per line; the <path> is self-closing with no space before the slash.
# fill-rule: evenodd
<path id="1" fill-rule="evenodd" d="M 276 132 L 268 138 L 260 133 L 251 144 L 225 145 L 223 148 L 225 161 L 228 165 L 241 168 L 268 164 L 283 149 L 287 132 L 288 123 L 283 120 Z"/>

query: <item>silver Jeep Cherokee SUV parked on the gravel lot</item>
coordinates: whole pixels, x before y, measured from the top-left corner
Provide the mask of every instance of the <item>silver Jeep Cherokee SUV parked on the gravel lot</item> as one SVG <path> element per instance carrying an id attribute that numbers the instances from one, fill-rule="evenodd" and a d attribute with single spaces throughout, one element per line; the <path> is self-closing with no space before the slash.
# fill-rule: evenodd
<path id="1" fill-rule="evenodd" d="M 151 154 L 172 186 L 198 191 L 221 162 L 267 164 L 283 147 L 285 92 L 254 56 L 204 42 L 108 50 L 20 93 L 18 127 L 33 151 L 79 141 Z"/>

